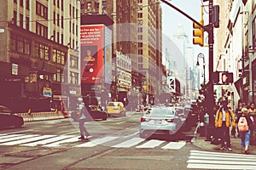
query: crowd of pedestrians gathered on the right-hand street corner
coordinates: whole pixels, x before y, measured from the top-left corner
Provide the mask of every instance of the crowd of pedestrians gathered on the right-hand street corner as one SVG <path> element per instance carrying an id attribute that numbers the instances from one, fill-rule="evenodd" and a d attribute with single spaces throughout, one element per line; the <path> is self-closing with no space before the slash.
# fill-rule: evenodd
<path id="1" fill-rule="evenodd" d="M 236 110 L 232 111 L 228 106 L 228 99 L 223 97 L 218 100 L 218 104 L 213 107 L 213 110 L 215 128 L 210 140 L 218 140 L 218 144 L 221 144 L 220 150 L 232 151 L 230 144 L 230 135 L 232 135 L 234 138 L 241 139 L 241 152 L 248 154 L 249 145 L 256 145 L 255 103 L 251 102 L 246 105 L 239 100 Z M 204 116 L 208 114 L 207 106 L 201 105 L 198 113 L 200 122 L 205 122 Z M 247 128 L 243 129 L 245 127 Z"/>

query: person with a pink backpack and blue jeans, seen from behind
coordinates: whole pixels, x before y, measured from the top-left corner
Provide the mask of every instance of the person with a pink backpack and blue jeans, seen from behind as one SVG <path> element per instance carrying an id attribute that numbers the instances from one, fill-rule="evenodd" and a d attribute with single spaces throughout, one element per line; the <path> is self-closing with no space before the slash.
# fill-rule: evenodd
<path id="1" fill-rule="evenodd" d="M 238 131 L 239 131 L 239 137 L 241 138 L 241 147 L 242 147 L 242 153 L 248 154 L 248 147 L 250 144 L 250 134 L 251 134 L 251 128 L 253 125 L 253 122 L 250 118 L 249 111 L 247 108 L 241 109 L 241 116 L 237 117 L 238 123 Z"/>

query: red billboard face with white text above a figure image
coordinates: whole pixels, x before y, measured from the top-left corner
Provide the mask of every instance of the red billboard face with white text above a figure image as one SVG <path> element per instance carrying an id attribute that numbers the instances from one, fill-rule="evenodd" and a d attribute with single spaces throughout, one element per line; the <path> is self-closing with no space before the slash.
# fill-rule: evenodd
<path id="1" fill-rule="evenodd" d="M 81 26 L 81 83 L 103 82 L 104 26 Z"/>

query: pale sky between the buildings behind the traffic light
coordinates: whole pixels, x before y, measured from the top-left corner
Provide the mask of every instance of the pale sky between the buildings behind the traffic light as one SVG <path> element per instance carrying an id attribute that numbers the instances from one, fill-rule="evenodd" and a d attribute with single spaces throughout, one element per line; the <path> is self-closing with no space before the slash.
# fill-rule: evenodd
<path id="1" fill-rule="evenodd" d="M 201 4 L 202 0 L 172 0 L 169 1 L 175 7 L 183 10 L 184 13 L 188 14 L 194 20 L 201 20 Z M 208 4 L 207 2 L 204 4 Z M 189 20 L 183 14 L 178 13 L 174 8 L 171 8 L 166 3 L 161 3 L 162 7 L 162 32 L 166 37 L 172 37 L 177 30 L 177 26 L 181 24 L 187 36 L 189 37 L 189 44 L 194 48 L 194 58 L 195 64 L 197 59 L 197 54 L 204 54 L 206 63 L 208 62 L 208 48 L 201 48 L 199 45 L 193 44 L 193 21 Z M 204 20 L 205 25 L 207 25 L 208 18 L 208 8 L 205 7 L 204 10 Z M 206 33 L 205 33 L 206 40 Z M 202 67 L 202 60 L 199 60 L 200 65 Z M 207 66 L 206 66 L 207 68 Z M 202 69 L 202 68 L 201 68 Z"/>

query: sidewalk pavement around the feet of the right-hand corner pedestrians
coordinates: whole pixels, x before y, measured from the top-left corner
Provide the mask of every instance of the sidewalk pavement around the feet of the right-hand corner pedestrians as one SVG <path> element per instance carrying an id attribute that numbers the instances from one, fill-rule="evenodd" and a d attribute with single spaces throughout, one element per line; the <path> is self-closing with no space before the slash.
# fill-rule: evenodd
<path id="1" fill-rule="evenodd" d="M 237 133 L 236 133 L 236 136 L 237 136 Z M 196 133 L 193 144 L 201 148 L 202 150 L 241 154 L 241 151 L 242 151 L 241 139 L 238 137 L 234 138 L 233 136 L 230 136 L 230 141 L 231 141 L 232 151 L 219 150 L 221 146 L 220 144 L 211 144 L 211 141 L 206 141 L 206 137 L 202 136 L 201 133 Z M 256 155 L 256 145 L 249 146 L 249 154 Z"/>

